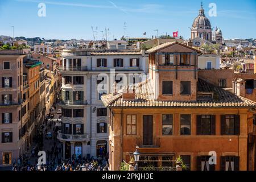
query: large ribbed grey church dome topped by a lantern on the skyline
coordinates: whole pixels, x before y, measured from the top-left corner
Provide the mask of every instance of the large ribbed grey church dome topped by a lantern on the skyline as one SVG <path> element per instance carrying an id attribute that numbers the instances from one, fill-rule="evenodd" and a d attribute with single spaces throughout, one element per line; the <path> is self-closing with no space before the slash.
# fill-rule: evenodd
<path id="1" fill-rule="evenodd" d="M 205 16 L 203 6 L 199 10 L 199 15 L 192 24 L 192 28 L 211 29 L 210 20 Z"/>

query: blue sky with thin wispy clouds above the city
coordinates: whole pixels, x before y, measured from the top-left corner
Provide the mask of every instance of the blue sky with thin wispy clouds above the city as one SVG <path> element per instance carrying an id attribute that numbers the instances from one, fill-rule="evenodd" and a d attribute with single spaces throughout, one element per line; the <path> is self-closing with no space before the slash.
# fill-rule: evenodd
<path id="1" fill-rule="evenodd" d="M 46 4 L 46 17 L 38 16 L 40 2 Z M 216 17 L 209 17 L 209 3 L 216 3 Z M 129 37 L 155 36 L 158 29 L 158 35 L 179 31 L 188 39 L 200 6 L 201 0 L 0 0 L 0 35 L 13 36 L 14 26 L 14 36 L 92 40 L 93 26 L 98 39 L 109 28 L 111 40 L 121 38 L 126 22 Z M 203 0 L 203 7 L 225 39 L 256 38 L 255 0 Z"/>

